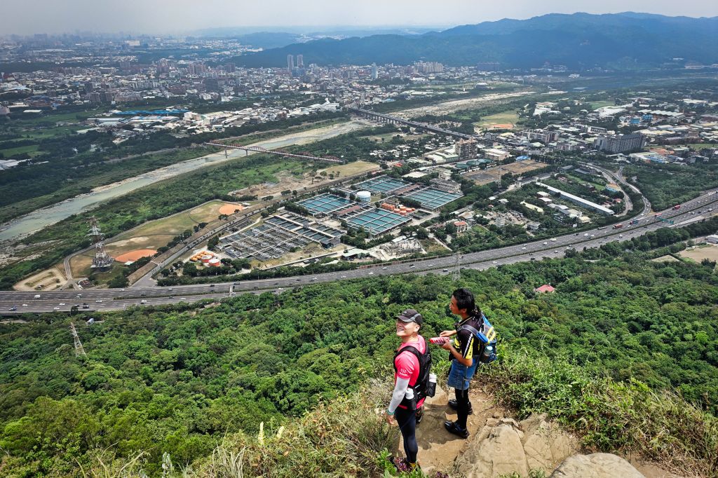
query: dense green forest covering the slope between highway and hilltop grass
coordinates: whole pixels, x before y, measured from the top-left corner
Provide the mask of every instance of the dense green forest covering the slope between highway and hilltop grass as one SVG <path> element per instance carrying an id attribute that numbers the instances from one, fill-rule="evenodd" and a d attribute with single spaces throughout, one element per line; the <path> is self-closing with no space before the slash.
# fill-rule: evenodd
<path id="1" fill-rule="evenodd" d="M 87 358 L 75 357 L 64 314 L 2 324 L 3 466 L 62 476 L 102 449 L 120 458 L 145 451 L 154 474 L 164 452 L 175 463 L 202 459 L 225 434 L 286 423 L 386 376 L 393 317 L 416 307 L 431 337 L 454 323 L 456 286 L 476 292 L 504 353 L 533 350 L 595 377 L 676 390 L 717 414 L 714 263 L 652 262 L 618 248 L 590 257 L 465 271 L 458 283 L 393 276 L 95 313 L 89 327 L 75 317 Z M 533 291 L 544 283 L 556 292 Z"/>

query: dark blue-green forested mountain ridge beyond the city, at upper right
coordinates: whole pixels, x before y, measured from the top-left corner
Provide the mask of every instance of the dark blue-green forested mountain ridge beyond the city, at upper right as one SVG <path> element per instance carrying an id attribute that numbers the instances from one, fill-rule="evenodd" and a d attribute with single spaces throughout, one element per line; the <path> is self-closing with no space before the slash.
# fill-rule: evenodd
<path id="1" fill-rule="evenodd" d="M 498 62 L 501 67 L 638 69 L 679 62 L 718 62 L 718 17 L 662 15 L 548 14 L 527 20 L 503 19 L 416 35 L 378 34 L 319 39 L 235 57 L 238 65 L 281 67 L 286 55 L 304 55 L 304 64 L 367 65 L 417 60 L 446 65 Z"/>

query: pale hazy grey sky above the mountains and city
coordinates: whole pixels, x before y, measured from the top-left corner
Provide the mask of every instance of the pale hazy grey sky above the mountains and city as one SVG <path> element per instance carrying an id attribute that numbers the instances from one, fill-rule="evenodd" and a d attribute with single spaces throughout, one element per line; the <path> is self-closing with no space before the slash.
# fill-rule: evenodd
<path id="1" fill-rule="evenodd" d="M 546 13 L 718 16 L 716 0 L 2 0 L 0 34 L 210 27 L 459 25 Z M 275 29 L 276 31 L 276 29 Z"/>

